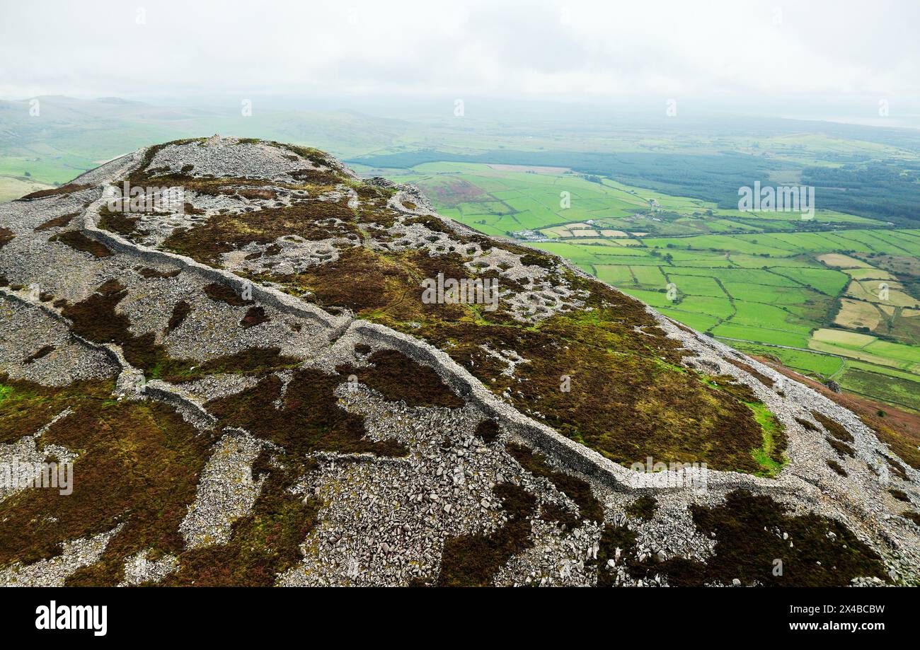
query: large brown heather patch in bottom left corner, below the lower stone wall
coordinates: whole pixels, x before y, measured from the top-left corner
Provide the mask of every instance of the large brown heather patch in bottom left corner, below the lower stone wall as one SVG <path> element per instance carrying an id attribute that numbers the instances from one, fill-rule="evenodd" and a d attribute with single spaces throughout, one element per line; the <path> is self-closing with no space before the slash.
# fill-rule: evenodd
<path id="1" fill-rule="evenodd" d="M 61 552 L 68 540 L 124 528 L 99 564 L 77 572 L 74 584 L 114 584 L 123 557 L 144 548 L 178 552 L 178 523 L 194 498 L 209 440 L 167 405 L 116 401 L 112 382 L 82 382 L 48 391 L 20 382 L 73 411 L 40 437 L 79 453 L 74 491 L 26 490 L 0 503 L 0 564 L 29 564 Z M 6 406 L 6 403 L 4 404 Z M 50 419 L 50 418 L 49 418 Z"/>

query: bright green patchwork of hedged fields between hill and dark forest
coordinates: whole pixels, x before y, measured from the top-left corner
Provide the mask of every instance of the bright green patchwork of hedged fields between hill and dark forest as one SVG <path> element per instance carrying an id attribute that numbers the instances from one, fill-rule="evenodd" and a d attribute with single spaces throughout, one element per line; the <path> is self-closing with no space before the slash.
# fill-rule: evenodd
<path id="1" fill-rule="evenodd" d="M 920 230 L 719 209 L 559 167 L 360 171 L 415 183 L 443 214 L 568 257 L 734 348 L 920 409 Z"/>

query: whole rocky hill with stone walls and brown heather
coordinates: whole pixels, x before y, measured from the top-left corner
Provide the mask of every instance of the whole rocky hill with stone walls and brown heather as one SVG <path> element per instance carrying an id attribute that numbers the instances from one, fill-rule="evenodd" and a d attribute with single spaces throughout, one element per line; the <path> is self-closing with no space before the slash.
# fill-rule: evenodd
<path id="1" fill-rule="evenodd" d="M 872 586 L 916 450 L 289 144 L 0 205 L 0 583 Z"/>

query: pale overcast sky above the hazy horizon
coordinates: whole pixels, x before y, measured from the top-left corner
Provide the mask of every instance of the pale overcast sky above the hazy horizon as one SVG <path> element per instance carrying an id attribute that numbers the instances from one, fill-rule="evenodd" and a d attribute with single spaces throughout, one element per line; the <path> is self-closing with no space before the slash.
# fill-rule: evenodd
<path id="1" fill-rule="evenodd" d="M 0 97 L 920 97 L 920 2 L 0 0 Z"/>

